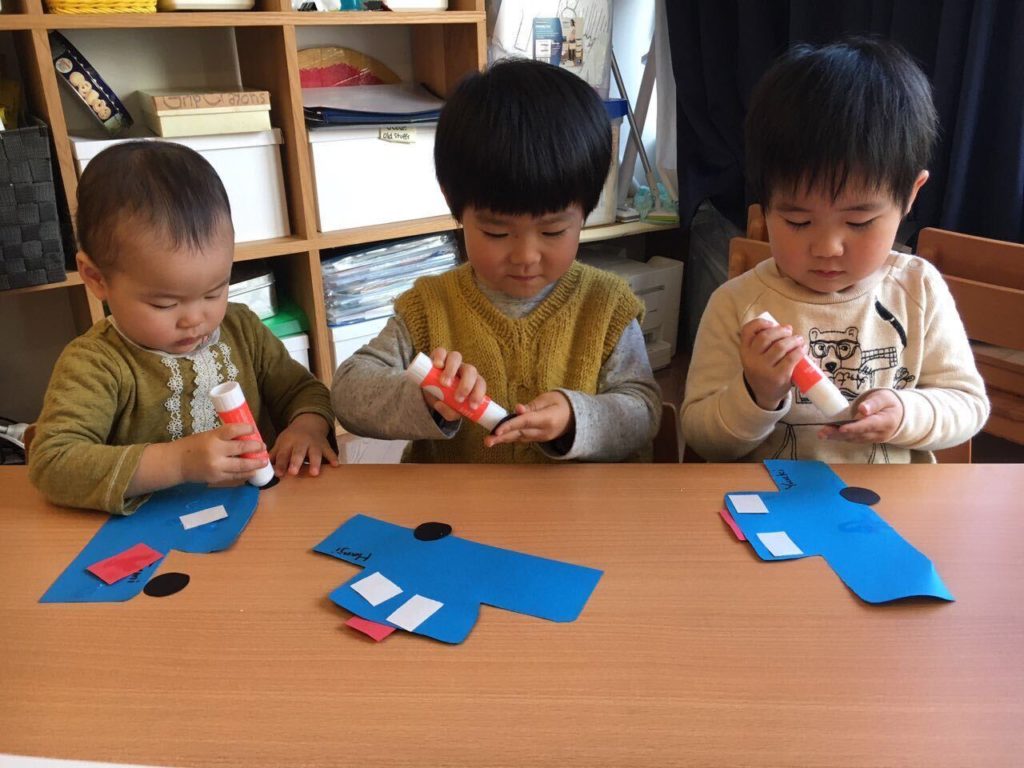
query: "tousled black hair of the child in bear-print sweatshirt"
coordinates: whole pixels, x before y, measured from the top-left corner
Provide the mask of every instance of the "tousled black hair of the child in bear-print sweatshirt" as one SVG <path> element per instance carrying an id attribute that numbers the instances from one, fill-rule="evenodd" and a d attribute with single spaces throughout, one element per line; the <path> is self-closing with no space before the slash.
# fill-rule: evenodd
<path id="1" fill-rule="evenodd" d="M 869 38 L 800 44 L 761 78 L 746 114 L 746 178 L 755 202 L 854 179 L 905 210 L 928 166 L 938 118 L 928 78 L 902 48 Z"/>

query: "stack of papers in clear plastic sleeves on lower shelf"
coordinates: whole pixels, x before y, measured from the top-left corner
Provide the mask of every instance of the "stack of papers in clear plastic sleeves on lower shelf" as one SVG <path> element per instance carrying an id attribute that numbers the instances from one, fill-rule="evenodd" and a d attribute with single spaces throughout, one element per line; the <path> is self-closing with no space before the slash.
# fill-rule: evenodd
<path id="1" fill-rule="evenodd" d="M 323 262 L 324 303 L 329 326 L 388 317 L 394 300 L 417 278 L 439 274 L 458 263 L 450 233 L 396 241 L 349 251 Z"/>

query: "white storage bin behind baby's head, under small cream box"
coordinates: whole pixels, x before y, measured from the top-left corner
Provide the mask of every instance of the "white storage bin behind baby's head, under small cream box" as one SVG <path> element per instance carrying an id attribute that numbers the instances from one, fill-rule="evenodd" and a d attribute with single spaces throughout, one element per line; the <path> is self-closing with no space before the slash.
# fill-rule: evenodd
<path id="1" fill-rule="evenodd" d="M 78 174 L 96 155 L 126 139 L 95 140 L 72 136 L 72 151 Z M 231 204 L 234 242 L 283 238 L 291 233 L 285 179 L 281 170 L 281 131 L 225 133 L 216 136 L 189 136 L 162 139 L 191 147 L 213 166 Z"/>

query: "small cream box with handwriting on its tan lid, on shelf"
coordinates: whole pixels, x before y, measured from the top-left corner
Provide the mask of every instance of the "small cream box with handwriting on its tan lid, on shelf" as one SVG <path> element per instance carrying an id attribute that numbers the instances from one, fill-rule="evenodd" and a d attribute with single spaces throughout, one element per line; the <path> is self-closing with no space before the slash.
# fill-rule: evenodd
<path id="1" fill-rule="evenodd" d="M 165 138 L 270 130 L 267 91 L 139 91 L 139 100 L 146 126 Z"/>

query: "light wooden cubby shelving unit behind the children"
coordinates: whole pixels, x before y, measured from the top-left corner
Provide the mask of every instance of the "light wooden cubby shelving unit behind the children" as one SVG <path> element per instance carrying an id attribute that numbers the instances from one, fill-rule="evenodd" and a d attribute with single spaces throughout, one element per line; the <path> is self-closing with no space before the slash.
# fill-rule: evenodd
<path id="1" fill-rule="evenodd" d="M 61 189 L 74 215 L 78 187 L 61 87 L 53 70 L 48 33 L 53 30 L 233 29 L 238 66 L 246 87 L 270 92 L 271 123 L 281 129 L 282 165 L 292 234 L 237 246 L 236 260 L 273 259 L 292 298 L 309 318 L 310 367 L 324 381 L 332 375 L 330 336 L 321 280 L 321 252 L 339 246 L 443 231 L 456 227 L 447 216 L 401 221 L 330 232 L 316 227 L 316 196 L 309 144 L 302 116 L 296 29 L 346 26 L 408 28 L 414 79 L 446 95 L 466 73 L 486 62 L 484 0 L 450 0 L 439 12 L 295 12 L 290 0 L 257 0 L 244 12 L 47 13 L 43 0 L 9 0 L 0 13 L 0 32 L 10 33 L 32 112 L 50 128 L 60 171 Z M 372 53 L 373 51 L 368 51 Z M 181 85 L 188 85 L 182 83 Z M 397 182 L 397 180 L 396 180 Z M 103 308 L 85 290 L 76 272 L 47 286 L 5 292 L 66 290 L 80 331 L 96 322 Z"/>

